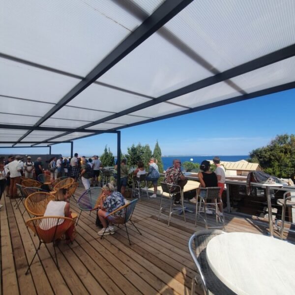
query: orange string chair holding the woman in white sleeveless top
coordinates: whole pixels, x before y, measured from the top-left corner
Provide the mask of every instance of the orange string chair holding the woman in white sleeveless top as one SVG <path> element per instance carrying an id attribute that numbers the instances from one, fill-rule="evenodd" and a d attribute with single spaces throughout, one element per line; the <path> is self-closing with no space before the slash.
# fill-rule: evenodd
<path id="1" fill-rule="evenodd" d="M 41 247 L 41 244 L 53 243 L 54 245 L 54 242 L 57 239 L 61 238 L 65 234 L 65 232 L 74 224 L 74 220 L 72 218 L 61 216 L 46 216 L 29 219 L 26 224 L 27 227 L 39 238 L 39 246 L 36 249 L 36 253 L 29 264 L 28 270 L 26 271 L 27 275 L 29 273 L 32 262 Z M 55 247 L 54 253 L 56 258 L 56 261 L 54 260 L 54 263 L 59 269 L 59 262 Z"/>

